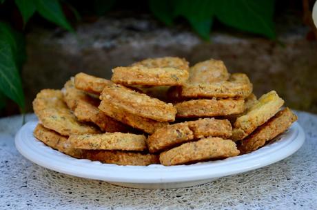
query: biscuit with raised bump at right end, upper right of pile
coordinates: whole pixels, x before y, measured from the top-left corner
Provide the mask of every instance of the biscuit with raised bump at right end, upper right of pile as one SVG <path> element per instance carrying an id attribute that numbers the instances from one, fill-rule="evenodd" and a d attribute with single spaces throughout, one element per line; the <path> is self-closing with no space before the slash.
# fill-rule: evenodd
<path id="1" fill-rule="evenodd" d="M 190 98 L 245 98 L 252 93 L 252 83 L 247 75 L 234 73 L 228 81 L 212 82 L 204 84 L 187 83 L 183 86 L 181 95 Z"/>

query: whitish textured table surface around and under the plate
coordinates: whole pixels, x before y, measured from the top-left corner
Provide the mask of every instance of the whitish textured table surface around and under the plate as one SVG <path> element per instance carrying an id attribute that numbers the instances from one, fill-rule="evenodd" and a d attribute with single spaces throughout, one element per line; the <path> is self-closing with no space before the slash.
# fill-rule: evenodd
<path id="1" fill-rule="evenodd" d="M 2 118 L 0 209 L 317 209 L 317 116 L 297 114 L 306 142 L 291 157 L 196 187 L 154 190 L 117 187 L 33 164 L 14 147 L 21 116 Z"/>

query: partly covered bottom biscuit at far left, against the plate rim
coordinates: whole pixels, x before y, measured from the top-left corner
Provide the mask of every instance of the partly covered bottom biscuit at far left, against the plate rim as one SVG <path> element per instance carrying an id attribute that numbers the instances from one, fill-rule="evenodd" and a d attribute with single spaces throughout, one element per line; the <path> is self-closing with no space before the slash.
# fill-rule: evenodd
<path id="1" fill-rule="evenodd" d="M 74 158 L 81 158 L 81 149 L 72 149 L 68 143 L 68 137 L 60 135 L 59 133 L 37 124 L 34 129 L 34 137 L 43 142 L 44 144 L 56 149 L 66 155 Z"/>

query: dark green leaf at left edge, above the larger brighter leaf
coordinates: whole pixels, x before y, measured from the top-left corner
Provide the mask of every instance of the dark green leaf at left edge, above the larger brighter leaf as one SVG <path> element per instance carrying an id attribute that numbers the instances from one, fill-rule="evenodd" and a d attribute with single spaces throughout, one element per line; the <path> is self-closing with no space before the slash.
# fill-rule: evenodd
<path id="1" fill-rule="evenodd" d="M 21 70 L 26 60 L 25 37 L 20 32 L 13 30 L 8 23 L 4 22 L 0 22 L 0 33 L 6 36 L 6 40 L 12 49 L 14 62 L 17 64 L 18 70 Z"/>

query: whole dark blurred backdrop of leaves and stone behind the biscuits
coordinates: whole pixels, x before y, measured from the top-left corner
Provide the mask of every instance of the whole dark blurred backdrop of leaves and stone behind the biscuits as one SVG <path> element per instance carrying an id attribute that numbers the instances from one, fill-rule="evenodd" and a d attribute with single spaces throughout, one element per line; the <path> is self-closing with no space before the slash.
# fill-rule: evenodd
<path id="1" fill-rule="evenodd" d="M 257 96 L 317 113 L 315 1 L 0 0 L 0 116 L 32 112 L 43 88 L 147 57 L 222 59 Z"/>

